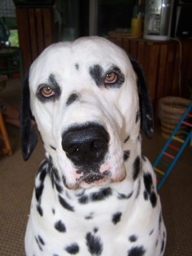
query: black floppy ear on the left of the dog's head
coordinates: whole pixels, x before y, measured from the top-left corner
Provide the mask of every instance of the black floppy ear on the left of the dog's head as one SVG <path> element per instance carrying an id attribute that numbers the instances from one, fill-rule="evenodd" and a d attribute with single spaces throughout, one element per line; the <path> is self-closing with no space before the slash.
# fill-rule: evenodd
<path id="1" fill-rule="evenodd" d="M 22 157 L 28 160 L 36 146 L 37 135 L 31 124 L 30 92 L 29 92 L 29 73 L 24 78 L 20 103 L 20 139 Z"/>

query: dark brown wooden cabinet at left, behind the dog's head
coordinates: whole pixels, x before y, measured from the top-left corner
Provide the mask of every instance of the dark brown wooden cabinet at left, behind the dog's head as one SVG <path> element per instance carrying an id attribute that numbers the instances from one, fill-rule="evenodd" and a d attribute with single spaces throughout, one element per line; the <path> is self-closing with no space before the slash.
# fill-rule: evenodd
<path id="1" fill-rule="evenodd" d="M 58 41 L 58 25 L 54 24 L 52 8 L 16 8 L 19 45 L 24 73 L 35 58 L 53 42 Z"/>

